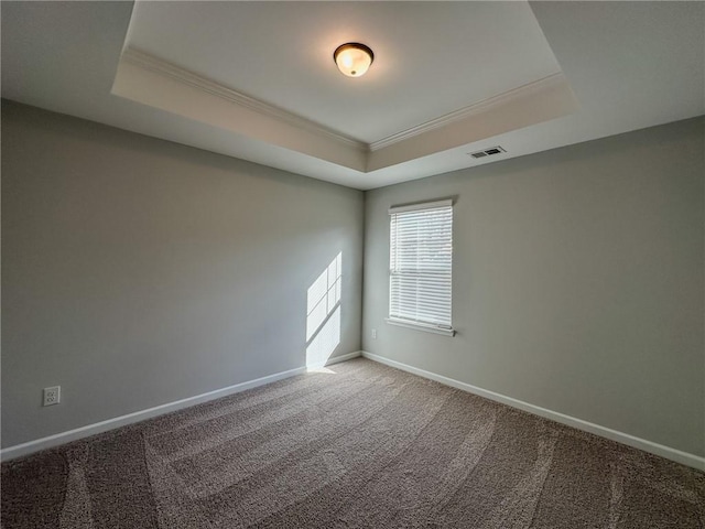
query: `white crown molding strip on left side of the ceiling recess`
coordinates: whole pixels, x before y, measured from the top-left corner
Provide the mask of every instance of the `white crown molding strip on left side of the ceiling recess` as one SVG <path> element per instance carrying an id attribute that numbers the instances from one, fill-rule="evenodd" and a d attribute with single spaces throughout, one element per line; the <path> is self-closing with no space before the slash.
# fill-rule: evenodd
<path id="1" fill-rule="evenodd" d="M 334 140 L 346 145 L 349 149 L 355 149 L 356 151 L 360 151 L 364 153 L 369 152 L 369 145 L 362 141 L 358 141 L 355 138 L 341 134 L 340 132 L 329 129 L 323 125 L 316 123 L 315 121 L 312 121 L 310 119 L 292 114 L 288 110 L 284 110 L 283 108 L 267 104 L 251 96 L 234 90 L 232 88 L 208 79 L 207 77 L 194 74 L 193 72 L 158 58 L 149 53 L 128 47 L 122 52 L 121 58 L 126 63 L 133 66 L 172 78 L 178 83 L 191 86 L 192 88 L 196 88 L 206 94 L 225 99 L 234 105 L 248 108 L 258 114 L 274 118 L 280 121 L 284 121 L 307 132 L 312 132 L 329 140 Z"/>

